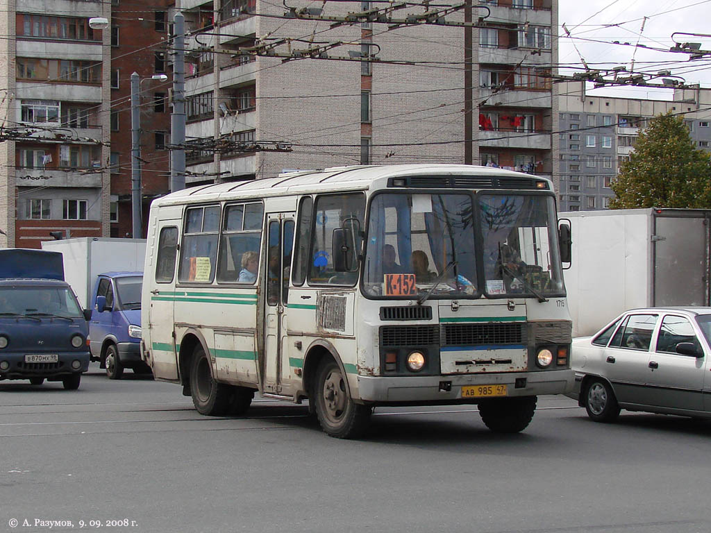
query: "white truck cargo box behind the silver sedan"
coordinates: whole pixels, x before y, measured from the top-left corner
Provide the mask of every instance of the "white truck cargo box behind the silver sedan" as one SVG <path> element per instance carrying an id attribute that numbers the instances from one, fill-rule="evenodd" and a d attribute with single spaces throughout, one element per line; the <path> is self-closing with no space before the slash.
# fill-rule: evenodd
<path id="1" fill-rule="evenodd" d="M 570 220 L 564 264 L 573 335 L 592 335 L 626 309 L 708 306 L 711 210 L 560 212 Z"/>

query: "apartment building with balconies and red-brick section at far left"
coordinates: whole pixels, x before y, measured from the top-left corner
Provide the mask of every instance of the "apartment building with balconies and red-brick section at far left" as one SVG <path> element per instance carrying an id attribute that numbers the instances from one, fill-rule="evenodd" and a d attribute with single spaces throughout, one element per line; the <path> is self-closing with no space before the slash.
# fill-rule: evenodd
<path id="1" fill-rule="evenodd" d="M 129 77 L 156 72 L 161 48 L 165 60 L 164 5 L 0 1 L 0 247 L 38 248 L 50 232 L 130 236 Z M 112 27 L 93 29 L 90 18 Z M 143 95 L 151 127 L 141 154 L 150 197 L 167 187 L 167 151 L 154 156 L 157 141 L 145 139 L 168 129 L 159 99 L 167 90 L 141 89 L 151 91 Z"/>

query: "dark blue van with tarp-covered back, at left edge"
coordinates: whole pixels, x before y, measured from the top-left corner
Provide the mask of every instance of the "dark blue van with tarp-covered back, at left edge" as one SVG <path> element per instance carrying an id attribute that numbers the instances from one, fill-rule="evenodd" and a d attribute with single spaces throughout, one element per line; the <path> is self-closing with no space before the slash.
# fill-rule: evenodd
<path id="1" fill-rule="evenodd" d="M 89 368 L 89 313 L 64 281 L 62 254 L 0 250 L 0 379 L 77 389 Z"/>

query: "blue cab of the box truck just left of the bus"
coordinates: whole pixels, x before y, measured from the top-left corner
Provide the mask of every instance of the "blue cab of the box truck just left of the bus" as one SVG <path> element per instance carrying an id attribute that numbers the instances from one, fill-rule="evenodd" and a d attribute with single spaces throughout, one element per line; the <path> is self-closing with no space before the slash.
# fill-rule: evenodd
<path id="1" fill-rule="evenodd" d="M 100 361 L 109 379 L 124 369 L 147 374 L 141 360 L 141 287 L 143 272 L 106 272 L 97 276 L 89 325 L 92 359 Z"/>

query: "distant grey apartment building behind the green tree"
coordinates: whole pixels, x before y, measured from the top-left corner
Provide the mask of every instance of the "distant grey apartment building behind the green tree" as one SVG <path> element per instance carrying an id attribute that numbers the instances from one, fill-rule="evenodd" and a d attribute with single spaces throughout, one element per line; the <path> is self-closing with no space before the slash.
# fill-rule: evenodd
<path id="1" fill-rule="evenodd" d="M 676 89 L 667 101 L 590 96 L 579 82 L 560 87 L 555 139 L 561 211 L 607 208 L 620 163 L 629 160 L 639 132 L 659 114 L 683 114 L 697 147 L 711 150 L 710 89 Z"/>

